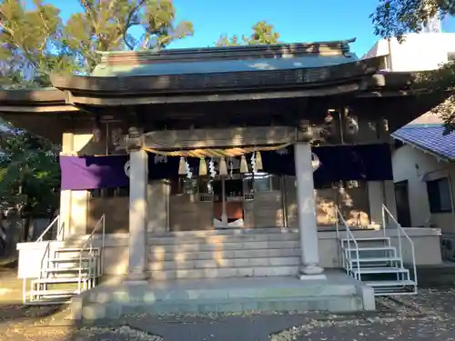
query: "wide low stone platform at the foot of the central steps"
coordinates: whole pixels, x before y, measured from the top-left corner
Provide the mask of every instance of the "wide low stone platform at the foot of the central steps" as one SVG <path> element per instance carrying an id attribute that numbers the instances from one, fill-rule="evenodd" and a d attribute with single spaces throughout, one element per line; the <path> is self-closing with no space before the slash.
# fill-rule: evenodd
<path id="1" fill-rule="evenodd" d="M 129 314 L 208 314 L 248 311 L 374 310 L 369 286 L 338 270 L 327 279 L 294 276 L 216 278 L 163 282 L 126 282 L 116 277 L 73 299 L 76 319 L 116 318 Z"/>

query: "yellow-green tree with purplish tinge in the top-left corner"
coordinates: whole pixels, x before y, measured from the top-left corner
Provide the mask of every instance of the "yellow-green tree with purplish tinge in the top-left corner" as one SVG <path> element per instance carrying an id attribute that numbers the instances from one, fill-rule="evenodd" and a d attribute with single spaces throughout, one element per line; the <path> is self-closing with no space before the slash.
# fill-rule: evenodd
<path id="1" fill-rule="evenodd" d="M 4 86 L 48 85 L 51 69 L 72 71 L 76 65 L 66 55 L 61 40 L 59 11 L 53 5 L 34 1 L 25 10 L 19 0 L 0 2 L 0 65 Z M 9 78 L 9 79 L 8 79 Z"/>

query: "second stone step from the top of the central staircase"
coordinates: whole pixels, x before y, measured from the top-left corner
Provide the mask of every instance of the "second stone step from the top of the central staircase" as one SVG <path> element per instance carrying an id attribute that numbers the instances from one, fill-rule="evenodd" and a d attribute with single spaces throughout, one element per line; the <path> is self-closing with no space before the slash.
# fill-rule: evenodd
<path id="1" fill-rule="evenodd" d="M 218 244 L 268 241 L 298 241 L 297 233 L 245 234 L 245 235 L 207 235 L 207 236 L 160 236 L 148 238 L 150 246 L 174 244 Z"/>

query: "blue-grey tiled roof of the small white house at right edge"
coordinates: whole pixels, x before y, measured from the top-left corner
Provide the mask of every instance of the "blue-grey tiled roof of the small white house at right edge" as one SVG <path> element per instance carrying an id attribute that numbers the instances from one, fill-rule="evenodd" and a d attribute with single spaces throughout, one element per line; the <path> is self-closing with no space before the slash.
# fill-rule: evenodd
<path id="1" fill-rule="evenodd" d="M 405 125 L 393 133 L 392 137 L 446 160 L 455 161 L 455 133 L 443 133 L 442 125 Z"/>

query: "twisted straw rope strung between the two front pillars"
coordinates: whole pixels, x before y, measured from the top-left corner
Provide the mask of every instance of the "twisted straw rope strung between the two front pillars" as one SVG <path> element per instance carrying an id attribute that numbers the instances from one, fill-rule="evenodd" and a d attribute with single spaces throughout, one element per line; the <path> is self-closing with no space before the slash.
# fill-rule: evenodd
<path id="1" fill-rule="evenodd" d="M 247 155 L 256 152 L 270 152 L 286 148 L 291 144 L 283 145 L 268 145 L 268 146 L 253 146 L 248 148 L 228 148 L 228 149 L 192 149 L 192 150 L 177 150 L 177 151 L 164 151 L 153 148 L 144 147 L 149 153 L 167 156 L 180 156 L 180 157 L 235 157 Z"/>

